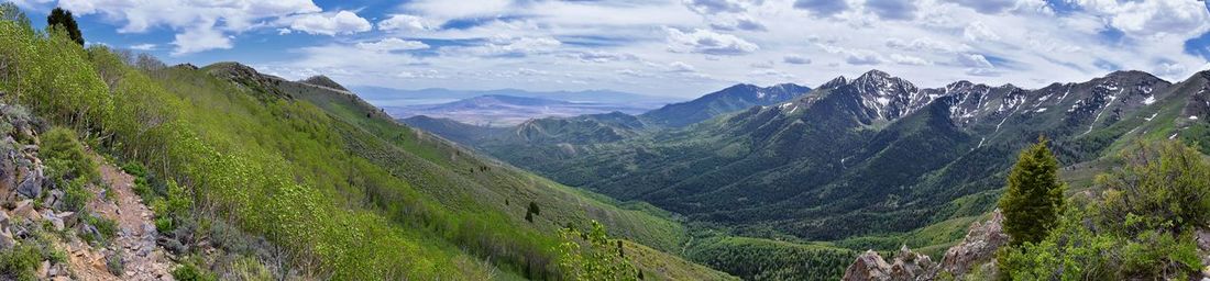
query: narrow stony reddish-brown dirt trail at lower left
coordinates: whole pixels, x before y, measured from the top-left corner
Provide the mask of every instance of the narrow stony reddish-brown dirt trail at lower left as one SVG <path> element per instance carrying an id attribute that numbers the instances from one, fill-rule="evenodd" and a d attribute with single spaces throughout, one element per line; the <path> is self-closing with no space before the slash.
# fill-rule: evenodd
<path id="1" fill-rule="evenodd" d="M 117 236 L 110 248 L 121 252 L 126 270 L 122 276 L 115 277 L 104 269 L 104 257 L 97 254 L 97 251 L 82 245 L 71 245 L 70 264 L 77 277 L 81 280 L 172 280 L 169 271 L 172 262 L 169 262 L 168 254 L 156 246 L 154 215 L 143 204 L 143 199 L 134 193 L 134 177 L 114 164 L 105 163 L 100 157 L 94 157 L 94 159 L 100 163 L 100 177 L 109 185 L 110 192 L 114 193 L 114 200 L 106 201 L 98 195 L 88 203 L 88 209 L 98 216 L 117 222 Z M 99 264 L 97 263 L 98 257 L 100 257 Z"/>

